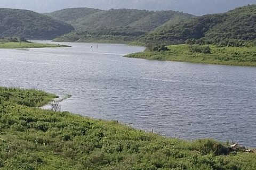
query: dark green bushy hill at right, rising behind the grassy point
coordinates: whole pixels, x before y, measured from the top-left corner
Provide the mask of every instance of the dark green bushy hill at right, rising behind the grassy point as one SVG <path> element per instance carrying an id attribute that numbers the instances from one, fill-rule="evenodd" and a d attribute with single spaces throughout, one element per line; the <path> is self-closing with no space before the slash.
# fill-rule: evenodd
<path id="1" fill-rule="evenodd" d="M 226 13 L 203 15 L 179 23 L 165 24 L 141 40 L 167 44 L 183 44 L 187 39 L 201 39 L 208 43 L 231 39 L 254 40 L 255 24 L 256 5 L 248 5 Z"/>

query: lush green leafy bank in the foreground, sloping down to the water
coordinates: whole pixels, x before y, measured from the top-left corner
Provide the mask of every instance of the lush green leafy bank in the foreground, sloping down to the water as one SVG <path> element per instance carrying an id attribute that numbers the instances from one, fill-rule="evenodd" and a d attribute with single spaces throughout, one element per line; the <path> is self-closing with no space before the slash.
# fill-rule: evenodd
<path id="1" fill-rule="evenodd" d="M 255 169 L 256 155 L 36 107 L 42 91 L 0 88 L 0 169 Z"/>

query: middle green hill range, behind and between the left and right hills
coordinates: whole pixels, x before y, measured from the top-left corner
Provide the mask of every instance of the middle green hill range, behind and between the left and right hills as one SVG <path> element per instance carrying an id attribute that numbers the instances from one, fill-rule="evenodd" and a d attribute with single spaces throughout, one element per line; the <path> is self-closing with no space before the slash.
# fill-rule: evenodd
<path id="1" fill-rule="evenodd" d="M 69 15 L 74 11 L 74 15 Z M 66 20 L 76 32 L 57 40 L 64 41 L 132 41 L 144 36 L 166 22 L 188 19 L 190 14 L 174 11 L 146 10 L 93 10 L 90 8 L 69 8 L 47 14 L 55 19 Z"/>

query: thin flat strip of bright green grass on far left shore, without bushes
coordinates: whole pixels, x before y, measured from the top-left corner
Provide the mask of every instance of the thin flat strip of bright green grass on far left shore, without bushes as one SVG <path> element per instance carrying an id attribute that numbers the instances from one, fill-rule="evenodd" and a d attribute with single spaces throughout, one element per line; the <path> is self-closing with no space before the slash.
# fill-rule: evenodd
<path id="1" fill-rule="evenodd" d="M 0 43 L 0 48 L 44 48 L 44 47 L 69 47 L 67 45 L 57 45 L 57 44 L 41 44 L 41 43 L 25 43 L 22 42 L 7 42 L 7 43 Z"/>

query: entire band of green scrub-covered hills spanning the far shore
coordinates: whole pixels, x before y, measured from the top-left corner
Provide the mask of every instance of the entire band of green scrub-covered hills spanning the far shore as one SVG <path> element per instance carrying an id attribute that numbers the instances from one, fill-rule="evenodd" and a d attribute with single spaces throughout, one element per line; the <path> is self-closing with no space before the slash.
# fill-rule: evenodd
<path id="1" fill-rule="evenodd" d="M 59 41 L 127 43 L 135 40 L 166 44 L 181 44 L 187 40 L 251 41 L 256 39 L 255 24 L 256 5 L 203 16 L 175 11 L 93 8 L 67 8 L 43 15 L 0 8 L 1 37 L 58 37 Z"/>

